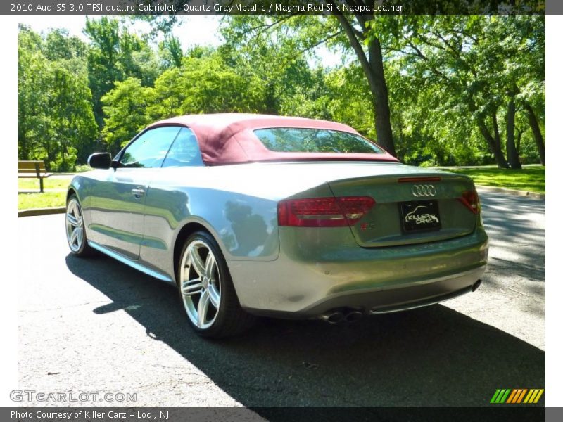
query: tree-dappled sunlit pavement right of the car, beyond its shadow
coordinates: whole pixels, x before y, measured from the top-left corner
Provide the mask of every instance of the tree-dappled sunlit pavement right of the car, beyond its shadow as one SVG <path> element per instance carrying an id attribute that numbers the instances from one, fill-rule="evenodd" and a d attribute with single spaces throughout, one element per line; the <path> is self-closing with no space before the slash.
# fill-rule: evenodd
<path id="1" fill-rule="evenodd" d="M 445 305 L 545 350 L 545 200 L 479 195 L 490 241 L 483 285 Z"/>

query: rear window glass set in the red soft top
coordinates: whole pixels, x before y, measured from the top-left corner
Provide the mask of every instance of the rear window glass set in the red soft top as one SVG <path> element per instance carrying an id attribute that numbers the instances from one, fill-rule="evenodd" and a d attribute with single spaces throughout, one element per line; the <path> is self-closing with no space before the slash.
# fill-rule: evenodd
<path id="1" fill-rule="evenodd" d="M 384 153 L 372 141 L 338 130 L 274 127 L 254 134 L 270 151 L 281 153 Z"/>

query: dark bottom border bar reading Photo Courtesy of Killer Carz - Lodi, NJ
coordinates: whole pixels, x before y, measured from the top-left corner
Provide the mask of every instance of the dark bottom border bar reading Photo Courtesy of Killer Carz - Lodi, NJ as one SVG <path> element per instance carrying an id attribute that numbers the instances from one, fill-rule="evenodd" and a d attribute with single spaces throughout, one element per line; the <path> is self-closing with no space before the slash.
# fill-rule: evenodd
<path id="1" fill-rule="evenodd" d="M 432 421 L 536 422 L 562 420 L 562 408 L 536 405 L 490 407 L 4 407 L 0 420 L 20 422 L 196 422 L 196 421 Z"/>

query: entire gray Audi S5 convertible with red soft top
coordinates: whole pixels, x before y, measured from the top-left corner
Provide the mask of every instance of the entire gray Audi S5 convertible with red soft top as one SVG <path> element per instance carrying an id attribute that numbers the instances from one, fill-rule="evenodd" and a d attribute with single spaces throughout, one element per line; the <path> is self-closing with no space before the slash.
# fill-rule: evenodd
<path id="1" fill-rule="evenodd" d="M 197 333 L 254 316 L 331 323 L 479 287 L 488 241 L 468 177 L 403 165 L 351 127 L 269 115 L 151 124 L 68 188 L 73 255 L 177 286 Z"/>

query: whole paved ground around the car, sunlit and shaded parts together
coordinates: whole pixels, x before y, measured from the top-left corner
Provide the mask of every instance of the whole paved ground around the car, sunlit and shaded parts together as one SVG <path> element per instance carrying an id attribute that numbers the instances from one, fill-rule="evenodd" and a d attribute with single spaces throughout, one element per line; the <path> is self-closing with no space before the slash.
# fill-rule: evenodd
<path id="1" fill-rule="evenodd" d="M 20 218 L 20 388 L 204 407 L 482 406 L 543 388 L 545 203 L 481 198 L 491 265 L 476 293 L 358 324 L 263 319 L 227 341 L 194 335 L 164 283 L 68 255 L 63 215 Z"/>

